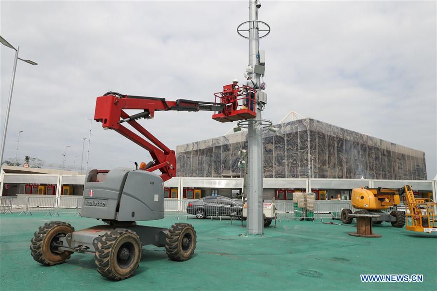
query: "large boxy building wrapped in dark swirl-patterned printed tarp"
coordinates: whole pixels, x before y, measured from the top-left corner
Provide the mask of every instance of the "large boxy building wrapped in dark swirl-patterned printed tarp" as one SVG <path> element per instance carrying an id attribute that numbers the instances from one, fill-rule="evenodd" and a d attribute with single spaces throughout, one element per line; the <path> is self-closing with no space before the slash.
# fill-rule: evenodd
<path id="1" fill-rule="evenodd" d="M 305 118 L 263 130 L 264 178 L 426 180 L 425 153 Z M 177 146 L 180 177 L 241 177 L 247 132 Z"/>

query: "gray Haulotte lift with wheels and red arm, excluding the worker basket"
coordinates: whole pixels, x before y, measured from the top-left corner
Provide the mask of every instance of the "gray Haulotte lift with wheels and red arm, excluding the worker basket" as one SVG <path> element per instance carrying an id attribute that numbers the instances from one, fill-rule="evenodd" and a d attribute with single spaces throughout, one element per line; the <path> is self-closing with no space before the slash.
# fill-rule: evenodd
<path id="1" fill-rule="evenodd" d="M 152 161 L 142 162 L 135 170 L 89 171 L 85 176 L 81 215 L 101 219 L 106 225 L 75 231 L 65 222 L 46 223 L 39 227 L 31 240 L 34 260 L 53 266 L 65 262 L 73 252 L 93 254 L 97 271 L 103 277 L 123 280 L 134 274 L 144 245 L 164 246 L 172 260 L 190 259 L 196 248 L 196 231 L 190 224 L 176 223 L 170 228 L 136 224 L 136 221 L 164 218 L 164 182 L 176 176 L 174 151 L 136 120 L 150 119 L 157 111 L 170 110 L 228 113 L 226 106 L 225 103 L 184 99 L 167 101 L 116 92 L 98 97 L 94 119 L 102 123 L 103 129 L 113 129 L 149 151 Z M 129 115 L 125 112 L 129 109 L 142 112 Z M 138 133 L 126 128 L 124 123 Z M 156 170 L 161 175 L 151 173 Z"/>

